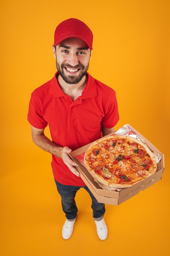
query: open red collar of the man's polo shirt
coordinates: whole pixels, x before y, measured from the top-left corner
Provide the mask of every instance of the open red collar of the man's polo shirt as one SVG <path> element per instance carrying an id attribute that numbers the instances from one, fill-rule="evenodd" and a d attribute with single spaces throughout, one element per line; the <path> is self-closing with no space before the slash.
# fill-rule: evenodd
<path id="1" fill-rule="evenodd" d="M 58 72 L 50 80 L 50 93 L 51 97 L 65 97 L 57 81 Z M 97 96 L 97 88 L 95 79 L 87 73 L 88 80 L 85 89 L 82 92 L 82 99 L 92 98 Z"/>

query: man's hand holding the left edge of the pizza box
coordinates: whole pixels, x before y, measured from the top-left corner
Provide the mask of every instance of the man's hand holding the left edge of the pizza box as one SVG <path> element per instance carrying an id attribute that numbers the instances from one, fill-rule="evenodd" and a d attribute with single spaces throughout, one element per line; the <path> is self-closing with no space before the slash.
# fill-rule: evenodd
<path id="1" fill-rule="evenodd" d="M 68 154 L 70 154 L 72 152 L 71 148 L 68 147 L 63 147 L 60 151 L 60 157 L 63 160 L 63 162 L 65 163 L 65 165 L 69 168 L 69 170 L 74 173 L 74 175 L 76 175 L 77 177 L 80 177 L 80 173 L 79 171 L 75 168 L 76 166 L 78 166 L 78 164 L 76 164 Z M 74 167 L 75 166 L 75 167 Z"/>

